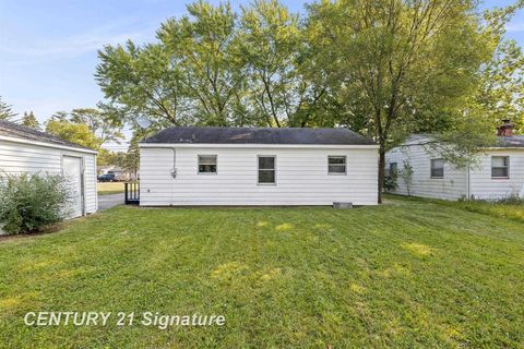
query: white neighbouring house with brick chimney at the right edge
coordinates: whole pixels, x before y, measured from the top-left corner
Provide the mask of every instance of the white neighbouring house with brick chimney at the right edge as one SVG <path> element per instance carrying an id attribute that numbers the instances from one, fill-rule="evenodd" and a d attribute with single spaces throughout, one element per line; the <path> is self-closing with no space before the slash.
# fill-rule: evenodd
<path id="1" fill-rule="evenodd" d="M 513 124 L 504 120 L 498 128 L 498 145 L 478 151 L 478 164 L 456 168 L 428 146 L 429 136 L 414 135 L 386 154 L 388 170 L 396 177 L 398 194 L 444 200 L 497 200 L 524 195 L 524 136 L 513 135 Z M 413 168 L 413 179 L 402 176 L 404 164 Z M 406 185 L 409 184 L 409 185 Z"/>

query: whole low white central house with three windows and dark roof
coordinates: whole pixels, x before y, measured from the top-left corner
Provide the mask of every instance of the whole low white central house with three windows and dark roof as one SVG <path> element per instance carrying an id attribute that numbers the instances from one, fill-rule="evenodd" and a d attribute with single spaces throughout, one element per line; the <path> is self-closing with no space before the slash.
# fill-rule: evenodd
<path id="1" fill-rule="evenodd" d="M 140 205 L 376 205 L 377 148 L 345 129 L 169 128 L 140 143 Z"/>

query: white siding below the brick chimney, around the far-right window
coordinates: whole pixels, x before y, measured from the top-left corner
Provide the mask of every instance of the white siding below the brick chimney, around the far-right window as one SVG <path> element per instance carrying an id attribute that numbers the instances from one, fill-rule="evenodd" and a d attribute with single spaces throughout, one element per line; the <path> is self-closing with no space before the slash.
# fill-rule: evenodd
<path id="1" fill-rule="evenodd" d="M 491 156 L 510 157 L 510 177 L 491 178 Z M 503 198 L 523 193 L 524 149 L 495 149 L 483 153 L 479 164 L 471 170 L 471 195 L 475 198 Z"/>

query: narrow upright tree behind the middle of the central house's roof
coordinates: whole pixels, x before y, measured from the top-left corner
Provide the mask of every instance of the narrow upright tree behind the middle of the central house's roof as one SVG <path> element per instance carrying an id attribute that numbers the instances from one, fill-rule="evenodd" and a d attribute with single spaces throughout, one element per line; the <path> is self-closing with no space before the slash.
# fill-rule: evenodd
<path id="1" fill-rule="evenodd" d="M 293 124 L 308 87 L 298 72 L 302 47 L 298 15 L 276 0 L 260 0 L 242 8 L 240 22 L 238 41 L 251 110 L 267 125 Z"/>

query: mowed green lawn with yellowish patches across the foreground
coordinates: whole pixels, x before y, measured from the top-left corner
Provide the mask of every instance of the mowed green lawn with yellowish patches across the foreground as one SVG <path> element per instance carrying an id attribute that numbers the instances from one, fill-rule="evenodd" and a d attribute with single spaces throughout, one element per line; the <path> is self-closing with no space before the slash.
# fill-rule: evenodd
<path id="1" fill-rule="evenodd" d="M 0 241 L 12 348 L 524 345 L 524 226 L 438 203 L 116 207 Z M 24 326 L 28 311 L 223 314 L 223 327 Z"/>

